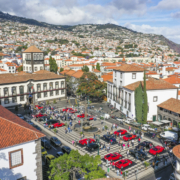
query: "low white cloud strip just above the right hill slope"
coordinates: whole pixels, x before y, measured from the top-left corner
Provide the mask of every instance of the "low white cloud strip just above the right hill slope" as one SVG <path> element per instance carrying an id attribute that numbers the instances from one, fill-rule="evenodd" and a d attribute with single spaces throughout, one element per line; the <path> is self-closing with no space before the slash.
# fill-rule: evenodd
<path id="1" fill-rule="evenodd" d="M 176 27 L 154 27 L 147 24 L 135 25 L 126 23 L 125 27 L 142 33 L 163 35 L 166 38 L 180 44 L 180 26 Z"/>

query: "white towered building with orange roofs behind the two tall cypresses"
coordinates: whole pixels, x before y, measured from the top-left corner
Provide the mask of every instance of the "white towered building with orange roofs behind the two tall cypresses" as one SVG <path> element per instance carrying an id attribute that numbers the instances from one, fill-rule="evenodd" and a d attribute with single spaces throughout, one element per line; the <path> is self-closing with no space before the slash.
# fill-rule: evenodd
<path id="1" fill-rule="evenodd" d="M 121 110 L 128 117 L 135 118 L 135 89 L 143 87 L 143 71 L 138 66 L 122 64 L 113 70 L 113 80 L 108 81 L 108 102 Z M 178 96 L 176 86 L 160 79 L 148 78 L 146 80 L 148 97 L 148 121 L 157 118 L 157 105 L 169 98 Z"/>

